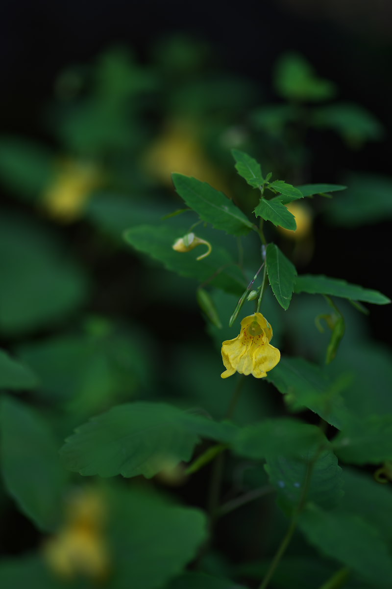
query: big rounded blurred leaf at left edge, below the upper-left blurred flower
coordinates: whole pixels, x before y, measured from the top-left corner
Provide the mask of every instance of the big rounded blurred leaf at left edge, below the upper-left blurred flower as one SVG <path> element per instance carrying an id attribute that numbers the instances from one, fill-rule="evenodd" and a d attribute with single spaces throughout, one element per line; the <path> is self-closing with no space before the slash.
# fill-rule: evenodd
<path id="1" fill-rule="evenodd" d="M 86 299 L 86 273 L 58 236 L 27 217 L 2 215 L 0 266 L 0 328 L 6 334 L 58 323 Z"/>

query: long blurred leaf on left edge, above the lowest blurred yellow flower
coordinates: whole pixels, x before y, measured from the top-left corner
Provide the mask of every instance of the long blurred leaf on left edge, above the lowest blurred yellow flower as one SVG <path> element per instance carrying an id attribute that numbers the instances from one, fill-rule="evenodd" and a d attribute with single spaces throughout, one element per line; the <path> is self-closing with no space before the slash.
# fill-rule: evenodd
<path id="1" fill-rule="evenodd" d="M 38 413 L 8 397 L 2 399 L 0 418 L 6 488 L 41 530 L 52 530 L 61 516 L 66 477 L 52 432 Z"/>

